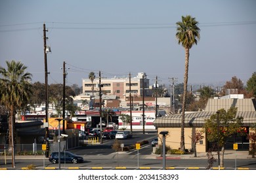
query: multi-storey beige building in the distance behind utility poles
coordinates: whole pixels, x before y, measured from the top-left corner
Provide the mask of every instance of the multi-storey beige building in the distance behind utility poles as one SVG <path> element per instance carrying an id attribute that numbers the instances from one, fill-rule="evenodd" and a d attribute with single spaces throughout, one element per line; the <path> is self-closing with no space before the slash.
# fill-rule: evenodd
<path id="1" fill-rule="evenodd" d="M 143 79 L 144 76 L 144 79 Z M 138 73 L 137 76 L 131 77 L 131 93 L 136 93 L 137 96 L 142 96 L 142 88 L 150 88 L 149 79 L 146 78 L 146 73 Z M 118 78 L 101 78 L 100 83 L 102 84 L 102 93 L 106 95 L 116 95 L 119 99 L 123 99 L 125 96 L 129 95 L 129 76 Z M 95 78 L 93 83 L 91 80 L 83 79 L 83 93 L 88 93 L 89 95 L 98 95 L 99 88 L 99 78 Z M 94 86 L 94 92 L 92 92 L 92 86 Z M 150 90 L 144 90 L 145 96 L 150 95 Z"/>

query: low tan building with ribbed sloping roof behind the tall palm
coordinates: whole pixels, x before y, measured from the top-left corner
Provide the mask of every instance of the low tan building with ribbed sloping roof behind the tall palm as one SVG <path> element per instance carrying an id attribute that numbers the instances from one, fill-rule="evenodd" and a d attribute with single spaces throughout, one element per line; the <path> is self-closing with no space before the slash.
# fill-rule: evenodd
<path id="1" fill-rule="evenodd" d="M 232 98 L 233 97 L 233 98 Z M 201 130 L 205 119 L 210 118 L 212 114 L 215 114 L 217 110 L 224 108 L 228 110 L 230 107 L 238 107 L 237 116 L 244 118 L 243 127 L 245 127 L 247 133 L 253 131 L 252 127 L 256 123 L 256 100 L 255 99 L 241 99 L 240 96 L 224 96 L 223 98 L 209 99 L 205 111 L 203 112 L 186 112 L 185 114 L 185 148 L 193 149 L 192 139 L 194 133 Z M 181 114 L 175 114 L 157 118 L 154 121 L 154 125 L 158 129 L 158 134 L 161 131 L 168 131 L 169 134 L 166 138 L 166 145 L 172 149 L 179 149 L 181 142 Z M 207 152 L 210 142 L 207 142 L 205 134 L 202 141 L 196 144 L 197 152 Z M 239 150 L 249 150 L 249 140 L 246 137 L 232 137 L 226 143 L 226 149 L 232 149 L 234 143 L 238 144 Z"/>

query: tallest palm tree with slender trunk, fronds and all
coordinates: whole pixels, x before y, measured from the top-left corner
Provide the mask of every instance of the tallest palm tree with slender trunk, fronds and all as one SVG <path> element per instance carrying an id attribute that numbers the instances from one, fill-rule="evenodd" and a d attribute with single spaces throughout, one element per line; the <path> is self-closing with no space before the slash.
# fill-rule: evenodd
<path id="1" fill-rule="evenodd" d="M 185 125 L 185 108 L 186 108 L 186 90 L 188 86 L 188 61 L 190 48 L 194 44 L 197 44 L 200 39 L 200 28 L 196 18 L 191 16 L 182 16 L 181 22 L 177 22 L 177 33 L 176 38 L 178 43 L 182 44 L 185 49 L 185 71 L 184 71 L 184 92 L 182 99 L 182 121 L 181 121 L 181 150 L 185 152 L 185 141 L 184 141 L 184 125 Z"/>

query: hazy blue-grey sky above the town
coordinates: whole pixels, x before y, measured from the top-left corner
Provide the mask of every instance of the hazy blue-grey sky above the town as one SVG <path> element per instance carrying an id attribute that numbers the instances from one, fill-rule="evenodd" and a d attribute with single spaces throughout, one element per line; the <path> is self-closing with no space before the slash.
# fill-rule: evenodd
<path id="1" fill-rule="evenodd" d="M 90 72 L 103 78 L 146 73 L 150 83 L 183 82 L 184 48 L 175 37 L 182 16 L 196 18 L 200 41 L 190 49 L 188 84 L 244 84 L 256 71 L 254 0 L 1 0 L 0 65 L 21 61 L 32 82 L 45 83 L 43 24 L 49 84 L 82 85 Z"/>

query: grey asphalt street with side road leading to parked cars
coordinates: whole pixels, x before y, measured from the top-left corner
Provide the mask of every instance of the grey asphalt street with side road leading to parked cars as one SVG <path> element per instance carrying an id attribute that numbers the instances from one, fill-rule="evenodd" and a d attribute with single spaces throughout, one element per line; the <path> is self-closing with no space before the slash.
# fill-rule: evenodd
<path id="1" fill-rule="evenodd" d="M 121 140 L 125 146 L 135 144 L 136 142 L 148 140 L 149 142 L 156 137 L 156 131 L 152 131 L 146 134 L 141 132 L 135 132 L 132 139 Z M 69 150 L 79 156 L 83 156 L 85 159 L 84 163 L 72 164 L 72 163 L 62 163 L 61 169 L 67 169 L 68 167 L 79 167 L 79 169 L 92 169 L 93 167 L 100 167 L 102 169 L 116 169 L 116 167 L 125 167 L 126 169 L 140 169 L 140 168 L 150 168 L 150 169 L 162 169 L 163 160 L 152 156 L 152 146 L 151 144 L 146 144 L 142 146 L 140 150 L 132 150 L 130 152 L 115 152 L 111 148 L 114 140 L 104 140 L 103 144 L 95 144 L 88 146 L 81 146 Z M 138 155 L 139 154 L 139 155 Z M 32 157 L 33 158 L 33 157 Z M 166 159 L 166 167 L 171 167 L 172 169 L 188 169 L 191 167 L 197 167 L 199 169 L 205 169 L 207 167 L 207 159 L 181 159 L 172 158 Z M 45 169 L 45 167 L 54 167 L 58 169 L 58 164 L 51 164 L 47 158 L 43 156 L 37 156 L 37 158 L 26 158 L 16 159 L 15 168 L 20 169 L 21 167 L 27 167 L 33 164 L 37 169 Z M 0 161 L 0 167 L 11 168 L 11 159 L 7 159 L 7 165 Z M 217 167 L 217 162 L 213 165 Z M 247 167 L 249 169 L 256 169 L 255 159 L 224 159 L 225 169 L 236 169 Z"/>

